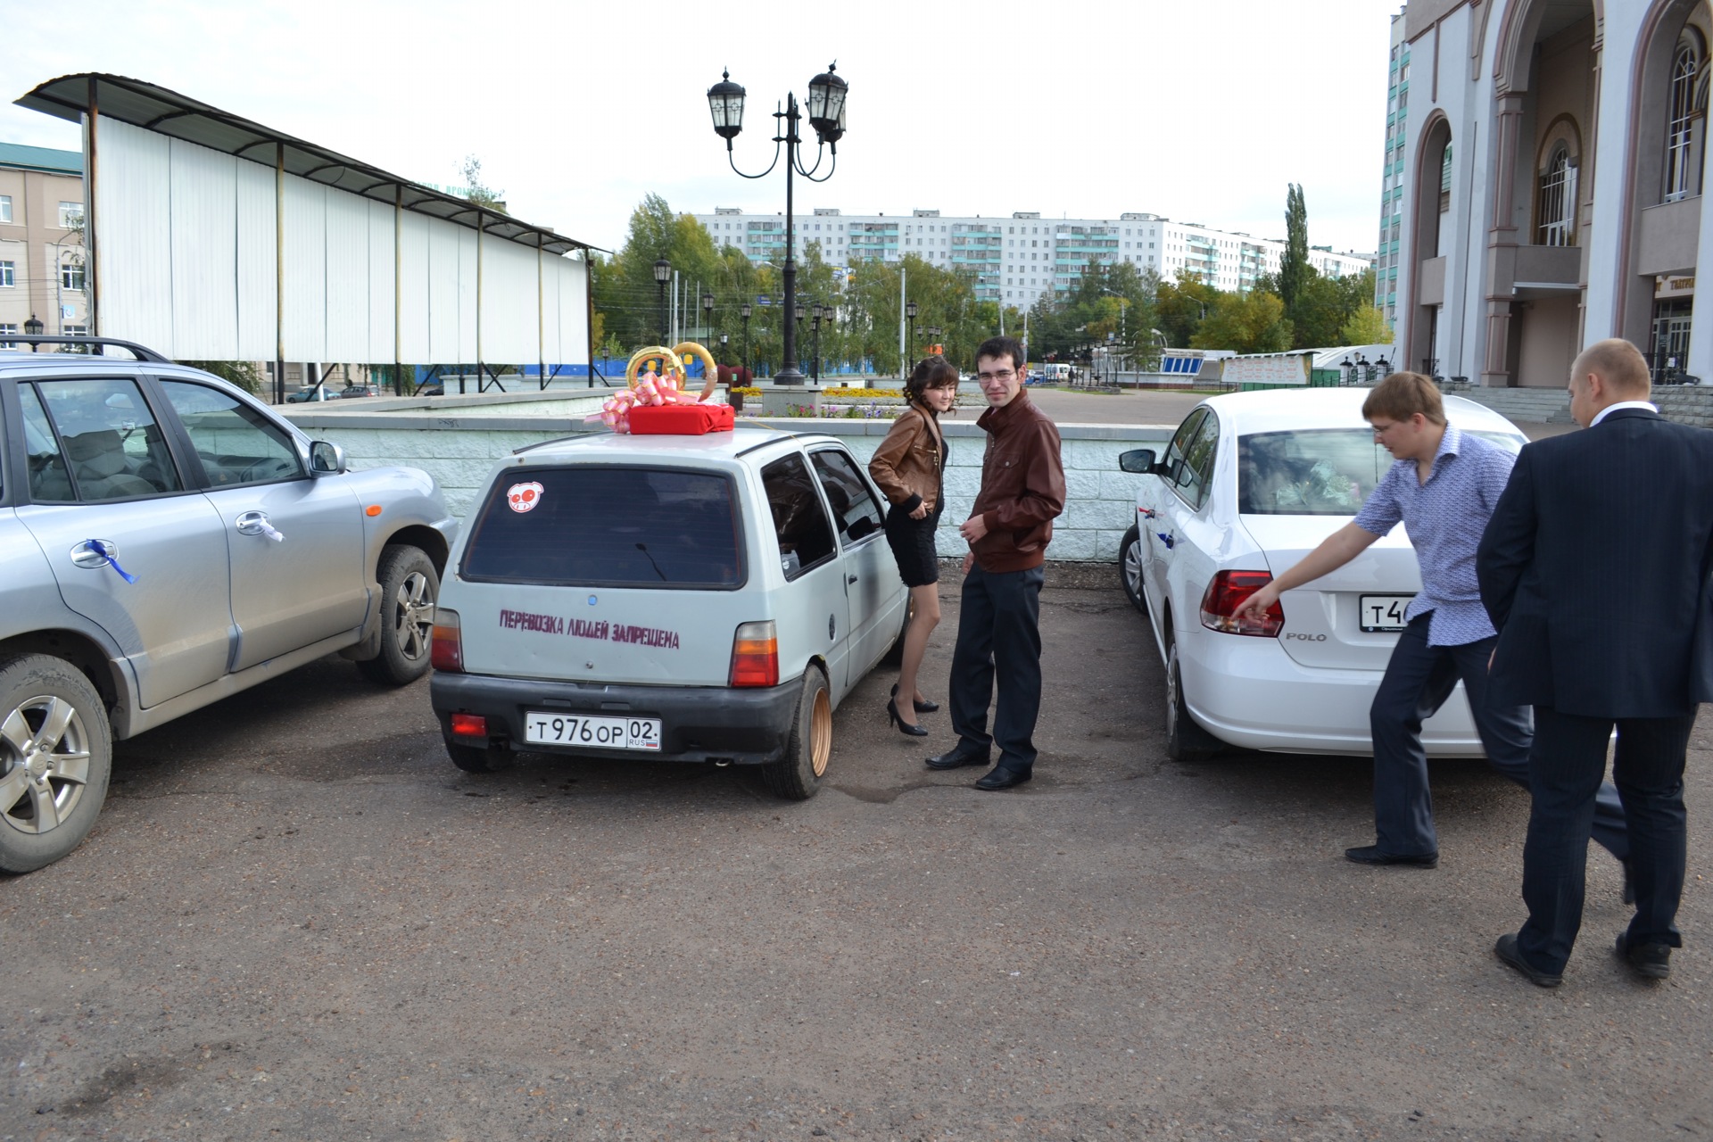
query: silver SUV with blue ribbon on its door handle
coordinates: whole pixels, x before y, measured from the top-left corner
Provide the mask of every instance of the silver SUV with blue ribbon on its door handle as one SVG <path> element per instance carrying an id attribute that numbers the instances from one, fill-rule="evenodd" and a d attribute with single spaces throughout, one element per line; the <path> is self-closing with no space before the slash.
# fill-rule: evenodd
<path id="1" fill-rule="evenodd" d="M 62 351 L 0 351 L 5 871 L 77 848 L 116 738 L 334 651 L 420 678 L 456 529 L 427 473 L 348 473 L 216 377 L 19 341 Z"/>

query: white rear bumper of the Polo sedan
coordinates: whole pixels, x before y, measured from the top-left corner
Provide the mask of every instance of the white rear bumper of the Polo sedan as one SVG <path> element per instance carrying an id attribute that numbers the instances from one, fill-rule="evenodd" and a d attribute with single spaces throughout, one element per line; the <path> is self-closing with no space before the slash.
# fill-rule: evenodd
<path id="1" fill-rule="evenodd" d="M 1302 666 L 1274 639 L 1179 632 L 1191 716 L 1213 736 L 1276 753 L 1374 753 L 1369 707 L 1384 671 Z M 1463 683 L 1422 723 L 1429 757 L 1485 757 Z"/>

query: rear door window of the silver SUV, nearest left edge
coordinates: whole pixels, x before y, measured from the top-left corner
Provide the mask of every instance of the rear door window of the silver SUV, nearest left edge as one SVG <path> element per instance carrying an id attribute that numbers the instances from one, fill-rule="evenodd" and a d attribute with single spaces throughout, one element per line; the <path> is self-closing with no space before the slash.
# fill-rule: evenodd
<path id="1" fill-rule="evenodd" d="M 29 390 L 31 385 L 19 387 L 21 394 Z M 41 380 L 34 385 L 34 397 L 24 399 L 24 435 L 33 455 L 36 498 L 91 503 L 183 488 L 166 437 L 137 382 Z M 36 455 L 41 457 L 39 481 L 34 478 Z"/>

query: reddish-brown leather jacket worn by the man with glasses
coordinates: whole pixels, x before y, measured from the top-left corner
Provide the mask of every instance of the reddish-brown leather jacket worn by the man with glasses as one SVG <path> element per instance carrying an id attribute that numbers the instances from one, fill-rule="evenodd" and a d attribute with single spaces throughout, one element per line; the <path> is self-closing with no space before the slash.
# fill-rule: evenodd
<path id="1" fill-rule="evenodd" d="M 1047 562 L 1053 517 L 1065 510 L 1065 469 L 1059 457 L 1059 426 L 1018 392 L 1009 404 L 982 413 L 987 431 L 982 491 L 970 510 L 987 534 L 971 546 L 990 574 L 1028 570 Z"/>

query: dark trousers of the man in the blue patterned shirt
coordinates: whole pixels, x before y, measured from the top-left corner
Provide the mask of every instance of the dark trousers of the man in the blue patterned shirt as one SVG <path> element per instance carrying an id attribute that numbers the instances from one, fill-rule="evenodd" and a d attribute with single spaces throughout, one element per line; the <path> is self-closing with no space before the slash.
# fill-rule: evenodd
<path id="1" fill-rule="evenodd" d="M 1427 788 L 1422 723 L 1439 712 L 1463 680 L 1475 731 L 1487 762 L 1530 789 L 1528 750 L 1533 740 L 1526 705 L 1495 705 L 1487 685 L 1487 661 L 1497 639 L 1454 647 L 1427 645 L 1432 611 L 1417 615 L 1398 635 L 1386 678 L 1369 709 L 1374 733 L 1374 832 L 1382 853 L 1427 856 L 1439 851 L 1434 794 Z M 1598 784 L 1598 782 L 1597 782 Z M 1617 789 L 1602 784 L 1593 798 L 1593 837 L 1617 859 L 1629 858 L 1624 805 Z"/>

